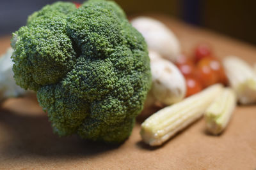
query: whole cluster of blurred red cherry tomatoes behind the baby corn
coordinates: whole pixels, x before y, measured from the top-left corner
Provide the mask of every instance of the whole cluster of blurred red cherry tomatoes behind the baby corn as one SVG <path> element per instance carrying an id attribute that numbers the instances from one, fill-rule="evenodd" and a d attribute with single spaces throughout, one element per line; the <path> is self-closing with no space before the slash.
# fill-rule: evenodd
<path id="1" fill-rule="evenodd" d="M 197 45 L 191 57 L 180 55 L 175 64 L 186 78 L 187 97 L 215 83 L 227 84 L 223 66 L 209 45 Z"/>

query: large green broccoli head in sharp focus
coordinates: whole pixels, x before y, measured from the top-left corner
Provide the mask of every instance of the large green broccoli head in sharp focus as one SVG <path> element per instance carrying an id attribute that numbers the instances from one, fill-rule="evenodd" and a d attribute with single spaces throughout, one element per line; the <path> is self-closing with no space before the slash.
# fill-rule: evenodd
<path id="1" fill-rule="evenodd" d="M 151 74 L 147 45 L 112 1 L 47 5 L 13 33 L 13 72 L 37 92 L 60 136 L 118 143 L 143 109 Z"/>

